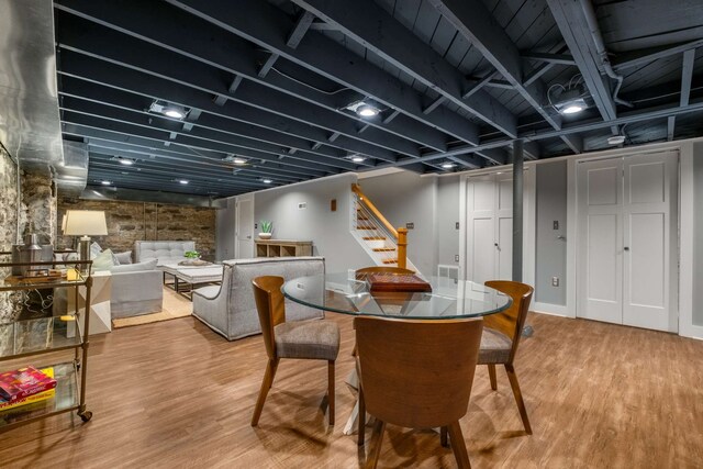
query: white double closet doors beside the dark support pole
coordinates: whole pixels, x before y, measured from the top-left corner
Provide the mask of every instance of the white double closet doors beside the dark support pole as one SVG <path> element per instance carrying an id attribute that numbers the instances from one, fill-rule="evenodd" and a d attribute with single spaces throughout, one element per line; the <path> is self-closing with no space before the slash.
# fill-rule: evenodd
<path id="1" fill-rule="evenodd" d="M 513 275 L 513 177 L 467 181 L 467 280 L 510 280 Z"/>

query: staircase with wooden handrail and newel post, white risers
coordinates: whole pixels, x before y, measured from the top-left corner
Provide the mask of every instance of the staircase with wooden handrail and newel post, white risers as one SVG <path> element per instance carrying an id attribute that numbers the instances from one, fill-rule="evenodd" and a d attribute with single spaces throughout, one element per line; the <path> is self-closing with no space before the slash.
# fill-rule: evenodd
<path id="1" fill-rule="evenodd" d="M 394 228 L 361 192 L 358 185 L 352 185 L 352 191 L 354 192 L 352 234 L 376 265 L 417 271 L 408 260 L 408 230 Z"/>

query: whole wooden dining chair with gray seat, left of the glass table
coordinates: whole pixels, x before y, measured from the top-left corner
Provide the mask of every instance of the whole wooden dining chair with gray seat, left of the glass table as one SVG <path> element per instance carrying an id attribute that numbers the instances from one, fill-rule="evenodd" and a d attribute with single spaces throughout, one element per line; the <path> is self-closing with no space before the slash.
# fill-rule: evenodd
<path id="1" fill-rule="evenodd" d="M 330 425 L 334 425 L 334 365 L 339 353 L 339 327 L 328 320 L 286 322 L 286 304 L 281 287 L 283 278 L 255 278 L 254 298 L 261 322 L 268 364 L 256 401 L 252 426 L 258 425 L 264 402 L 274 384 L 281 358 L 319 359 L 327 361 L 327 403 Z"/>

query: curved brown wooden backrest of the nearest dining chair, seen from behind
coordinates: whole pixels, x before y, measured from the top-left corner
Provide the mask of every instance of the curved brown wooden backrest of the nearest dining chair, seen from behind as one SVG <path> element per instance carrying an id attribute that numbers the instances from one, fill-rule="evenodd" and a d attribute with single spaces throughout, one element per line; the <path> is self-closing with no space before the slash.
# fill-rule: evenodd
<path id="1" fill-rule="evenodd" d="M 469 404 L 481 320 L 354 320 L 367 411 L 410 428 L 445 426 Z"/>

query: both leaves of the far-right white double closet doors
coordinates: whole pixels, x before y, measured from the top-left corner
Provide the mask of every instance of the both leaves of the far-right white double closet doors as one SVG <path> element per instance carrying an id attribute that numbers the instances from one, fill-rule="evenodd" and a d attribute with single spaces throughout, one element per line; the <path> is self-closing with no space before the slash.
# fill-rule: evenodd
<path id="1" fill-rule="evenodd" d="M 579 164 L 579 317 L 678 330 L 677 164 L 672 152 Z"/>

